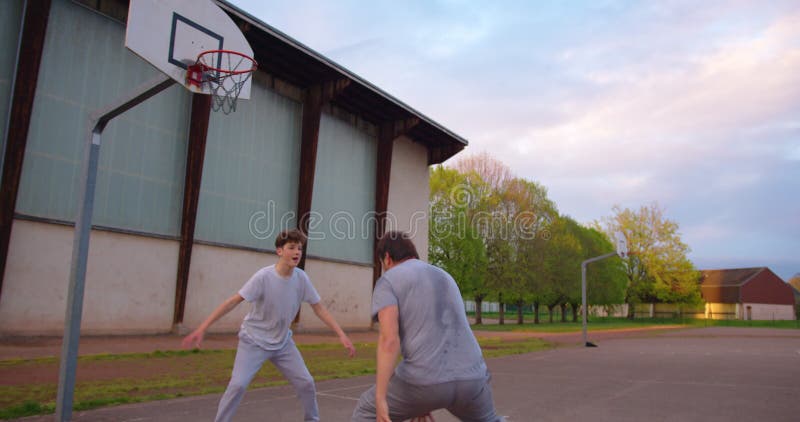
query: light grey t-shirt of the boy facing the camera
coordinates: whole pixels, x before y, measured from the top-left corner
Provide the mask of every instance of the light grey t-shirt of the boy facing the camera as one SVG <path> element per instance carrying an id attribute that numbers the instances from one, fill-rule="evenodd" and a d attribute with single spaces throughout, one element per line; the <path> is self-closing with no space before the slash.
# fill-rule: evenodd
<path id="1" fill-rule="evenodd" d="M 266 350 L 279 350 L 286 345 L 292 336 L 289 326 L 302 302 L 313 305 L 320 301 L 303 270 L 295 268 L 291 276 L 283 278 L 274 265 L 253 274 L 239 295 L 252 304 L 240 335 L 247 335 Z"/>

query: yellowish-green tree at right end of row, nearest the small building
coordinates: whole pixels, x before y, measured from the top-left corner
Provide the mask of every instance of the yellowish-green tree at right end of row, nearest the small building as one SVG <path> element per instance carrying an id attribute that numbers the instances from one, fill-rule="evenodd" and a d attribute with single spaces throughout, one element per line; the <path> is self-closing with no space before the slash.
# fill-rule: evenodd
<path id="1" fill-rule="evenodd" d="M 622 232 L 628 243 L 630 253 L 622 260 L 628 317 L 633 318 L 637 303 L 700 303 L 700 273 L 687 257 L 689 247 L 681 241 L 678 224 L 665 218 L 657 203 L 638 211 L 615 206 L 613 211 L 603 219 L 603 229 L 610 238 Z"/>

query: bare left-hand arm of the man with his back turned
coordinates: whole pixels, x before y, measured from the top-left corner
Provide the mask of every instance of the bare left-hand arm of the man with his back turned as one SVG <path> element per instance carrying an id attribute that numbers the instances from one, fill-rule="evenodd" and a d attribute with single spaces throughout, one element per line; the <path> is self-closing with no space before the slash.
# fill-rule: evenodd
<path id="1" fill-rule="evenodd" d="M 400 356 L 400 328 L 397 305 L 378 311 L 380 334 L 378 336 L 378 366 L 375 375 L 375 410 L 378 422 L 391 422 L 386 391 Z"/>

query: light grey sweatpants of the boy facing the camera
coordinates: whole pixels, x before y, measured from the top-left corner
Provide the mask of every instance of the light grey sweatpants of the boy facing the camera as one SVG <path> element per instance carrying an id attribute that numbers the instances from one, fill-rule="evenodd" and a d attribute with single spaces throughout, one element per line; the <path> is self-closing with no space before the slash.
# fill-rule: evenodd
<path id="1" fill-rule="evenodd" d="M 256 375 L 266 360 L 273 365 L 292 384 L 297 393 L 297 398 L 303 403 L 305 421 L 319 421 L 319 407 L 317 406 L 317 390 L 314 378 L 306 368 L 306 363 L 297 350 L 293 339 L 289 339 L 280 350 L 266 350 L 252 342 L 247 336 L 239 336 L 239 347 L 236 349 L 236 359 L 233 362 L 233 372 L 228 388 L 217 408 L 216 422 L 228 422 L 236 413 L 236 408 L 247 391 L 247 386 Z"/>

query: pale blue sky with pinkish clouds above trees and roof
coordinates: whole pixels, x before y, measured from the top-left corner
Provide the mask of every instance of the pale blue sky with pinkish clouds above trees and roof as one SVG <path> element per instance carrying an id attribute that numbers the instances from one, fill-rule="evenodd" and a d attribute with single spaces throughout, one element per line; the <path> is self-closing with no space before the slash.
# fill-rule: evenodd
<path id="1" fill-rule="evenodd" d="M 800 273 L 800 1 L 233 0 L 591 223 Z"/>

